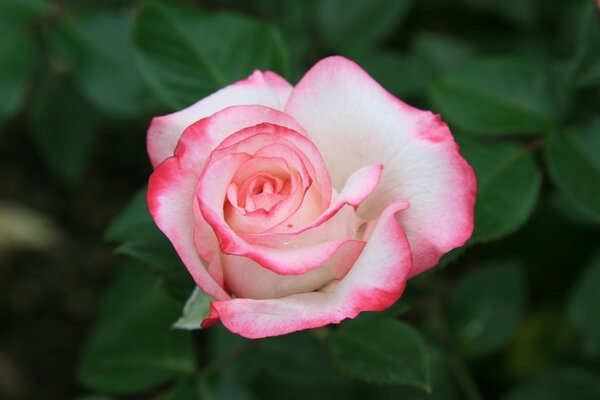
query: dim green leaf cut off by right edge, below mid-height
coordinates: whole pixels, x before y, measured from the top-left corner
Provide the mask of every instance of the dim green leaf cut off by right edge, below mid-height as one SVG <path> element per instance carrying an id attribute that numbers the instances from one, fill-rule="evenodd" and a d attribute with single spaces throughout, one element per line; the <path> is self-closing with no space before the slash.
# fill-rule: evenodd
<path id="1" fill-rule="evenodd" d="M 600 356 L 600 253 L 590 261 L 569 301 L 569 320 L 583 333 L 587 351 Z"/>

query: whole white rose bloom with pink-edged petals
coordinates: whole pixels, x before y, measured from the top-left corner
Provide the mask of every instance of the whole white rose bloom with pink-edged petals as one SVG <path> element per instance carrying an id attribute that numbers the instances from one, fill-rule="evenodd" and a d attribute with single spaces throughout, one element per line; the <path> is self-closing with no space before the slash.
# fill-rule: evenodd
<path id="1" fill-rule="evenodd" d="M 154 118 L 148 205 L 202 322 L 249 338 L 382 310 L 473 230 L 475 176 L 439 116 L 330 57 Z"/>

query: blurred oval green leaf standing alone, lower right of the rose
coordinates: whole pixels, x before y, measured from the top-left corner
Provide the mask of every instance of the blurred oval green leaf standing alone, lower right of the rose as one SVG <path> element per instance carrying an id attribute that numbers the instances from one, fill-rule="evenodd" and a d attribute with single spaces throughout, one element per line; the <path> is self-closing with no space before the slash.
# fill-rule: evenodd
<path id="1" fill-rule="evenodd" d="M 450 299 L 450 326 L 464 354 L 480 357 L 505 347 L 515 336 L 525 306 L 519 264 L 498 261 L 464 275 Z"/>

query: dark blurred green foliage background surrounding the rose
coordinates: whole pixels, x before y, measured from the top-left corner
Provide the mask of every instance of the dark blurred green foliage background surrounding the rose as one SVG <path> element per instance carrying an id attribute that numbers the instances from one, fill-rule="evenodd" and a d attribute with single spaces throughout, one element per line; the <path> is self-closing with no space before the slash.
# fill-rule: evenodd
<path id="1" fill-rule="evenodd" d="M 473 238 L 339 327 L 171 329 L 150 119 L 331 54 L 448 122 Z M 0 0 L 2 399 L 598 399 L 599 288 L 592 0 Z"/>

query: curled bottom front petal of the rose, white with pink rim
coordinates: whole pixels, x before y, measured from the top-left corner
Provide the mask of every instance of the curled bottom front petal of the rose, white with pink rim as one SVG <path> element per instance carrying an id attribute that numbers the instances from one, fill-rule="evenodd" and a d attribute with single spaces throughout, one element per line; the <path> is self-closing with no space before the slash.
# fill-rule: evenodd
<path id="1" fill-rule="evenodd" d="M 371 239 L 341 281 L 280 299 L 216 301 L 202 325 L 220 319 L 230 331 L 254 339 L 339 323 L 362 311 L 389 307 L 402 294 L 412 265 L 407 238 L 395 218 L 407 207 L 393 203 L 384 210 Z"/>

